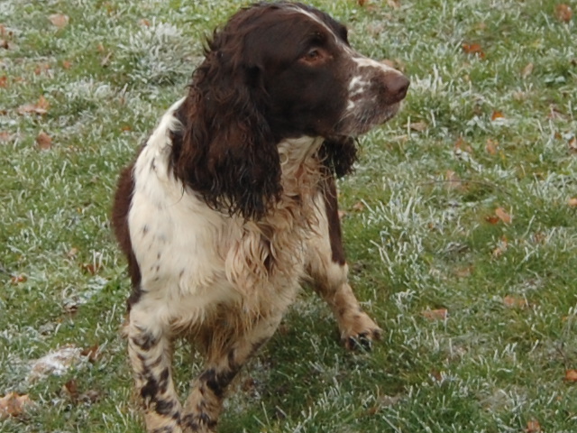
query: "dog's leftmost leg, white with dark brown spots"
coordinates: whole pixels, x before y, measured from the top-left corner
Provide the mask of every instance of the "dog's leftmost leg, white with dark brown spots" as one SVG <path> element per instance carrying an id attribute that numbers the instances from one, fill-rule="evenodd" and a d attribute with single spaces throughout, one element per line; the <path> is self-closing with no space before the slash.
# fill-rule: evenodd
<path id="1" fill-rule="evenodd" d="M 148 311 L 142 300 L 137 302 L 126 329 L 136 390 L 142 398 L 149 433 L 181 433 L 181 406 L 170 373 L 169 336 L 153 311 Z"/>

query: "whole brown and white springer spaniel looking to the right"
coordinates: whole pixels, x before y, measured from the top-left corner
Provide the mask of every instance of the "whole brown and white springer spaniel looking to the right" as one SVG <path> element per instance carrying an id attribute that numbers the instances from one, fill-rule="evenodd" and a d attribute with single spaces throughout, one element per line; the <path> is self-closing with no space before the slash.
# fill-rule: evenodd
<path id="1" fill-rule="evenodd" d="M 207 42 L 188 95 L 120 176 L 115 235 L 133 293 L 126 325 L 151 432 L 212 432 L 234 375 L 310 281 L 347 348 L 380 328 L 347 282 L 335 178 L 354 137 L 398 111 L 409 81 L 347 30 L 281 1 L 240 10 Z M 181 405 L 171 342 L 206 356 Z"/>

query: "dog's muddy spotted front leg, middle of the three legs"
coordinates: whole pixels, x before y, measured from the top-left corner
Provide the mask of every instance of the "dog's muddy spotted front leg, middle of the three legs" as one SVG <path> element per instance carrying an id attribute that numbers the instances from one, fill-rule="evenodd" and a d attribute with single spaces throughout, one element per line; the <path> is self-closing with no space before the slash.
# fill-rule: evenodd
<path id="1" fill-rule="evenodd" d="M 239 313 L 243 314 L 243 313 Z M 226 387 L 233 381 L 243 364 L 272 336 L 279 326 L 282 311 L 261 317 L 249 330 L 238 334 L 238 328 L 228 336 L 224 346 L 208 343 L 208 362 L 203 373 L 192 383 L 182 418 L 186 433 L 212 433 L 223 407 Z M 223 341 L 212 336 L 211 341 Z"/>

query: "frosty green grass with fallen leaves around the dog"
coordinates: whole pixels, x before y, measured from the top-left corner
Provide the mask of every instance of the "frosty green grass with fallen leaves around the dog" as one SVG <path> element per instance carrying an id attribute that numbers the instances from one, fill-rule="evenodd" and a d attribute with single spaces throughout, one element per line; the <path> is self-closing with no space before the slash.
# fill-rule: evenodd
<path id="1" fill-rule="evenodd" d="M 351 280 L 384 337 L 345 353 L 304 290 L 219 431 L 574 431 L 575 18 L 536 0 L 313 3 L 412 81 L 340 182 Z M 119 336 L 115 179 L 183 94 L 203 35 L 240 4 L 0 4 L 0 397 L 33 401 L 3 432 L 143 431 Z M 46 114 L 18 113 L 41 96 Z M 61 375 L 34 373 L 66 347 Z M 183 346 L 176 361 L 185 392 L 200 360 Z"/>

